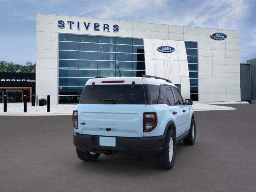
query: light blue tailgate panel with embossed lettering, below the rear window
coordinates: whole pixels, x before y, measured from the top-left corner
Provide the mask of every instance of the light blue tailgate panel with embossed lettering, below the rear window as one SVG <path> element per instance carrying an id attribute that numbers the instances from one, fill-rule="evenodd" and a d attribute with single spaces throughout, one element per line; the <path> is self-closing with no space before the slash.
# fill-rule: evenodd
<path id="1" fill-rule="evenodd" d="M 78 132 L 101 136 L 143 137 L 144 112 L 144 104 L 79 104 Z"/>

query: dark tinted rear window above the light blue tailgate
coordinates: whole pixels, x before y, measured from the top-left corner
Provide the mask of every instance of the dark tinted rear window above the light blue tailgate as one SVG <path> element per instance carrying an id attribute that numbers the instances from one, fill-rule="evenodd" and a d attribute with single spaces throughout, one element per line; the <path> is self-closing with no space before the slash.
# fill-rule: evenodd
<path id="1" fill-rule="evenodd" d="M 80 104 L 145 104 L 142 84 L 85 86 Z"/>

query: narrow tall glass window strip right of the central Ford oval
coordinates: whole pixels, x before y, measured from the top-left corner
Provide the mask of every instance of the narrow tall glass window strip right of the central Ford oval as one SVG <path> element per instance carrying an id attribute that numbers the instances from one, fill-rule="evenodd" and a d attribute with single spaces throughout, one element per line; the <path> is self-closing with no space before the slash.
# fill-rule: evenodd
<path id="1" fill-rule="evenodd" d="M 185 42 L 190 80 L 190 98 L 198 101 L 198 45 L 197 42 Z"/>

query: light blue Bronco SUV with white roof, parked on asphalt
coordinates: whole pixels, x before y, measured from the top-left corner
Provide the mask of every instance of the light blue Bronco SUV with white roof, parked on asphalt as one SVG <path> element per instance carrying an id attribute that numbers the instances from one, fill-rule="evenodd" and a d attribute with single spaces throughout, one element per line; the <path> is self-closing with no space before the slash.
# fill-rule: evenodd
<path id="1" fill-rule="evenodd" d="M 77 155 L 84 161 L 101 153 L 154 157 L 159 168 L 171 169 L 176 144 L 196 139 L 191 105 L 163 78 L 90 79 L 72 116 Z"/>

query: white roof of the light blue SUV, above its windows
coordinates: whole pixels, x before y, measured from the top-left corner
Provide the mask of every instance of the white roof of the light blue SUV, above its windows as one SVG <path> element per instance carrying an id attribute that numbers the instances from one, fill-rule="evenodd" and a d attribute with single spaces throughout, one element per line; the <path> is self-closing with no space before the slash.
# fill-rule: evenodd
<path id="1" fill-rule="evenodd" d="M 122 81 L 122 82 L 113 82 L 113 81 Z M 124 82 L 123 82 L 124 81 Z M 151 84 L 151 85 L 160 85 L 160 84 L 168 84 L 171 86 L 175 86 L 172 83 L 166 82 L 166 80 L 162 79 L 156 79 L 156 78 L 147 78 L 147 77 L 104 77 L 104 78 L 94 78 L 89 79 L 86 82 L 86 85 L 92 85 L 94 82 L 95 85 L 100 84 L 132 84 L 132 82 L 135 82 L 135 84 Z"/>

